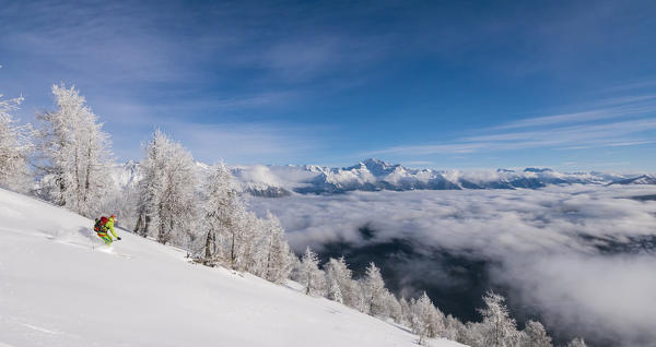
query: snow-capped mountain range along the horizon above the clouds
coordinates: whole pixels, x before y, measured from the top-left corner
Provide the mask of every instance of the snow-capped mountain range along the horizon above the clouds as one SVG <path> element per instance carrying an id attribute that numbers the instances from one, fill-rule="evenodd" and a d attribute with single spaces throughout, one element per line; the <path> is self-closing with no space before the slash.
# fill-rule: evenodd
<path id="1" fill-rule="evenodd" d="M 210 165 L 197 163 L 204 176 Z M 522 170 L 411 169 L 379 159 L 366 159 L 344 168 L 304 166 L 232 166 L 235 188 L 255 196 L 281 198 L 298 194 L 339 194 L 349 191 L 539 189 L 560 184 L 656 184 L 654 175 L 618 175 L 598 171 L 559 172 L 549 168 Z M 141 179 L 139 163 L 128 161 L 113 169 L 118 188 Z"/>

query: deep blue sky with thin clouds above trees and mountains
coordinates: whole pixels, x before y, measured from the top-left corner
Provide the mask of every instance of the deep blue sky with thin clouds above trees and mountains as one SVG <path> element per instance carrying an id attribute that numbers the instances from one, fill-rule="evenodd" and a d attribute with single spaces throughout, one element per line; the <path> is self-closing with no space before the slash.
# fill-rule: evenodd
<path id="1" fill-rule="evenodd" d="M 74 84 L 139 159 L 656 171 L 653 1 L 0 1 L 21 118 Z"/>

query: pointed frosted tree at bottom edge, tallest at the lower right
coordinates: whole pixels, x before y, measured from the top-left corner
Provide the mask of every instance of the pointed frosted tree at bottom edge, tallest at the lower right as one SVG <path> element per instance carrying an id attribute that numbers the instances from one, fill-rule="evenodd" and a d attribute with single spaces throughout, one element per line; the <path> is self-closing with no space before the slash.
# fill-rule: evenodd
<path id="1" fill-rule="evenodd" d="M 505 306 L 505 298 L 489 291 L 483 296 L 483 301 L 485 308 L 480 310 L 483 316 L 481 323 L 482 346 L 518 346 L 520 334 L 515 320 L 511 318 Z"/>

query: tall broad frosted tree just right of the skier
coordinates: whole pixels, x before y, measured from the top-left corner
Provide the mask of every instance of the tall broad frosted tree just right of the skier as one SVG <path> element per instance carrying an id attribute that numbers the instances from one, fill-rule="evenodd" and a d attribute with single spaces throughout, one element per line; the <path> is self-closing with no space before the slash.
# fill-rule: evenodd
<path id="1" fill-rule="evenodd" d="M 145 146 L 137 230 L 186 246 L 194 238 L 196 175 L 191 154 L 156 130 Z"/>

